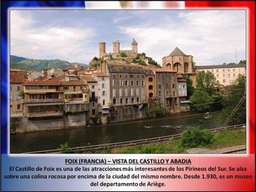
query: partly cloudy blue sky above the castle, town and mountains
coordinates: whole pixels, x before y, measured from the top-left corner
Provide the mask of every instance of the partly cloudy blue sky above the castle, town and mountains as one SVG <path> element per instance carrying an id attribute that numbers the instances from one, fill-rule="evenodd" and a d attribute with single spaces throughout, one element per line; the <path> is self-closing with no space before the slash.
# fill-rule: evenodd
<path id="1" fill-rule="evenodd" d="M 99 42 L 145 52 L 162 65 L 175 47 L 196 65 L 246 60 L 246 10 L 11 10 L 10 54 L 88 64 Z"/>

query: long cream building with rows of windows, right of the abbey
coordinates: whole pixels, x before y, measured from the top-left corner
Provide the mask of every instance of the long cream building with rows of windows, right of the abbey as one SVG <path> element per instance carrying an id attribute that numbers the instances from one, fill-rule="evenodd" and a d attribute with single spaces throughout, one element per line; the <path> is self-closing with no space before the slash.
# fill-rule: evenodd
<path id="1" fill-rule="evenodd" d="M 228 86 L 236 81 L 239 74 L 246 76 L 246 65 L 236 64 L 196 66 L 196 73 L 199 71 L 212 72 L 220 84 L 223 86 Z"/>

